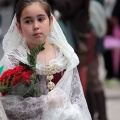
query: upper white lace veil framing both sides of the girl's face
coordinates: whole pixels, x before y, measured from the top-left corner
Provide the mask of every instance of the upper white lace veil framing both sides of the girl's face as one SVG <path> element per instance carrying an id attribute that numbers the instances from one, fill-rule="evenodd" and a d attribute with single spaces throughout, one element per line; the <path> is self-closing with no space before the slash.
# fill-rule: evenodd
<path id="1" fill-rule="evenodd" d="M 53 17 L 53 25 L 52 25 L 52 30 L 49 34 L 50 42 L 61 48 L 62 52 L 70 60 L 69 62 L 71 63 L 71 68 L 74 68 L 79 63 L 78 57 L 75 54 L 73 48 L 68 44 L 65 35 L 63 34 L 58 22 L 56 21 L 53 15 L 52 17 Z M 2 44 L 3 44 L 4 53 L 9 52 L 13 48 L 17 48 L 22 43 L 22 41 L 23 41 L 22 36 L 16 27 L 16 15 L 15 15 L 12 20 L 12 24 L 3 39 Z M 74 62 L 71 61 L 71 58 L 75 58 Z"/>

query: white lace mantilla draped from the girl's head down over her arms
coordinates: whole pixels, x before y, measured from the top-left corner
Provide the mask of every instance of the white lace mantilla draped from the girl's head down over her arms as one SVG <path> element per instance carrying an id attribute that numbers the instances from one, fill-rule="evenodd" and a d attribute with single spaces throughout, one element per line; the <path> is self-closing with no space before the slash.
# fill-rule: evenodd
<path id="1" fill-rule="evenodd" d="M 3 39 L 5 55 L 0 62 L 0 66 L 4 65 L 4 70 L 15 67 L 18 64 L 18 60 L 27 64 L 27 52 L 29 51 L 27 51 L 26 46 L 19 46 L 21 35 L 16 28 L 15 22 L 16 17 L 14 17 L 11 27 Z M 41 91 L 44 94 L 39 98 L 29 97 L 23 99 L 20 96 L 0 97 L 8 119 L 91 120 L 76 68 L 79 63 L 78 57 L 68 44 L 54 17 L 52 31 L 48 38 L 58 48 L 59 55 L 57 58 L 60 56 L 60 59 L 56 62 L 51 61 L 50 65 L 54 63 L 57 72 L 63 69 L 66 69 L 66 71 L 55 88 L 50 92 L 47 91 L 44 75 L 40 75 Z M 39 68 L 37 72 L 40 74 Z"/>

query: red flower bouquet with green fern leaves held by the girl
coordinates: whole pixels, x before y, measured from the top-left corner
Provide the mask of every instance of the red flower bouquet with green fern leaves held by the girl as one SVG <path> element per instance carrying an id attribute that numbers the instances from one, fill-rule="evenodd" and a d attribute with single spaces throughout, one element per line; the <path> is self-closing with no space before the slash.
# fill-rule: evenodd
<path id="1" fill-rule="evenodd" d="M 23 97 L 39 97 L 39 81 L 36 74 L 37 54 L 44 50 L 44 44 L 38 48 L 33 48 L 27 54 L 28 65 L 19 62 L 19 66 L 8 69 L 0 76 L 1 95 L 20 95 Z"/>

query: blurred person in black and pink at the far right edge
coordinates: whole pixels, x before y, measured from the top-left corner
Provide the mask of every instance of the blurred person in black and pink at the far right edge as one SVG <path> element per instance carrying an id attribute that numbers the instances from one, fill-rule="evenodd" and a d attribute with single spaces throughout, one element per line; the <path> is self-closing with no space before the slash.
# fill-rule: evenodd
<path id="1" fill-rule="evenodd" d="M 120 41 L 120 0 L 116 0 L 112 15 L 111 23 L 113 26 L 112 36 L 115 40 Z M 120 47 L 112 50 L 112 61 L 113 61 L 113 75 L 115 78 L 120 80 Z"/>

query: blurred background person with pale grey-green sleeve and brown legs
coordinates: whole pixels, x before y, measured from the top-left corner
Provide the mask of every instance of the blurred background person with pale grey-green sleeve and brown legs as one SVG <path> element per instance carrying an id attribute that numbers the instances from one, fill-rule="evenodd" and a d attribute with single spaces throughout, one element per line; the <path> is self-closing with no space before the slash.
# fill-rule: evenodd
<path id="1" fill-rule="evenodd" d="M 107 120 L 105 95 L 99 78 L 99 54 L 103 53 L 103 37 L 106 33 L 106 17 L 103 1 L 91 0 L 89 6 L 92 39 L 89 41 L 88 60 L 93 54 L 94 59 L 88 64 L 86 99 L 93 120 Z M 93 46 L 91 46 L 93 42 Z"/>

